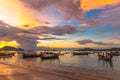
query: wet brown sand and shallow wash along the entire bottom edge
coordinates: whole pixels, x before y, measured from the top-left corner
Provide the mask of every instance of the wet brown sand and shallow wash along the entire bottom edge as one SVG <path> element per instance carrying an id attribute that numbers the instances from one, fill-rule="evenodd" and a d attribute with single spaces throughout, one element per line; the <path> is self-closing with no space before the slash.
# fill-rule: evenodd
<path id="1" fill-rule="evenodd" d="M 70 74 L 0 64 L 0 80 L 120 80 L 120 72 L 81 69 Z"/>

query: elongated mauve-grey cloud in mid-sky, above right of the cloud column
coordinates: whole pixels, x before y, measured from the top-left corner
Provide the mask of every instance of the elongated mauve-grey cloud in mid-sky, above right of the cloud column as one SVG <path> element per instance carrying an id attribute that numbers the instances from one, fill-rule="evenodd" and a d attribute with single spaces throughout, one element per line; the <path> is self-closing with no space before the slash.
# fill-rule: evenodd
<path id="1" fill-rule="evenodd" d="M 79 32 L 77 28 L 72 27 L 71 25 L 54 26 L 54 27 L 40 26 L 40 27 L 31 29 L 31 31 L 32 32 L 37 31 L 37 33 L 39 34 L 51 34 L 51 35 L 58 35 L 58 36 L 63 36 L 66 34 L 75 34 Z"/>

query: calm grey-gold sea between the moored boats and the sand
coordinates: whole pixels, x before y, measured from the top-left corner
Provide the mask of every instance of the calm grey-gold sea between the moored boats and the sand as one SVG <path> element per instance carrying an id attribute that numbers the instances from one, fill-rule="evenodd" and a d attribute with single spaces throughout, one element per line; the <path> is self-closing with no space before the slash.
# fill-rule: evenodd
<path id="1" fill-rule="evenodd" d="M 39 53 L 39 52 L 38 52 Z M 37 58 L 23 59 L 22 53 L 16 53 L 12 58 L 0 58 L 0 63 L 32 68 L 37 70 L 63 71 L 79 73 L 82 69 L 120 71 L 120 56 L 113 56 L 111 61 L 99 60 L 97 52 L 88 55 L 73 55 L 70 51 L 64 52 L 58 59 L 42 60 Z"/>

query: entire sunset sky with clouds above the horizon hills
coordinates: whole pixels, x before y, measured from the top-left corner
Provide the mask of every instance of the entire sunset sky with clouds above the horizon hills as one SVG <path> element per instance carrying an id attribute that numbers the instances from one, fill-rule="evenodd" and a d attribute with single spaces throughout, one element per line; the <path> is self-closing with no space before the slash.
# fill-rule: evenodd
<path id="1" fill-rule="evenodd" d="M 0 0 L 0 48 L 120 47 L 120 0 Z"/>

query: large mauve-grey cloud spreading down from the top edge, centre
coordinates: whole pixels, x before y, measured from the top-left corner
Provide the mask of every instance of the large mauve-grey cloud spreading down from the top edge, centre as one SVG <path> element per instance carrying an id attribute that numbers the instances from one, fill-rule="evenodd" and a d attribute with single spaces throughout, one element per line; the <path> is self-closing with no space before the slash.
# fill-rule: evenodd
<path id="1" fill-rule="evenodd" d="M 26 8 L 29 8 L 38 14 L 51 8 L 57 9 L 65 20 L 77 20 L 88 24 L 89 26 L 101 25 L 96 19 L 85 19 L 85 12 L 81 8 L 80 0 L 19 0 Z M 88 4 L 88 3 L 87 3 Z"/>

